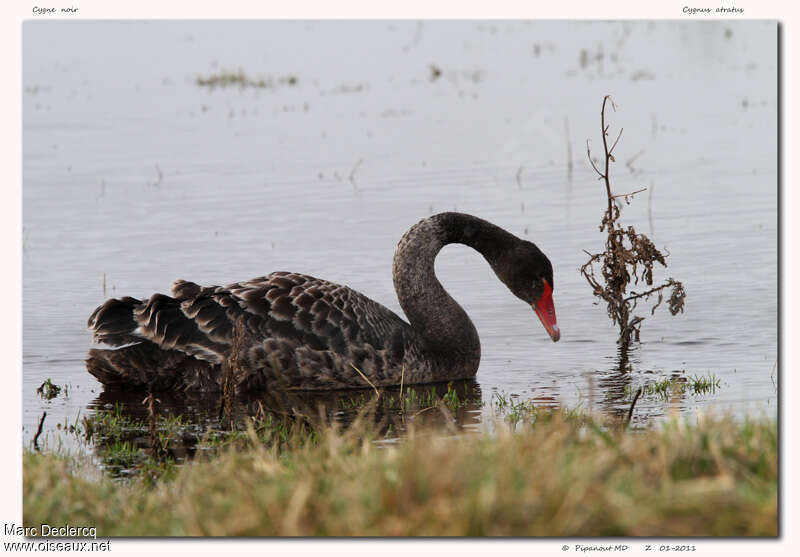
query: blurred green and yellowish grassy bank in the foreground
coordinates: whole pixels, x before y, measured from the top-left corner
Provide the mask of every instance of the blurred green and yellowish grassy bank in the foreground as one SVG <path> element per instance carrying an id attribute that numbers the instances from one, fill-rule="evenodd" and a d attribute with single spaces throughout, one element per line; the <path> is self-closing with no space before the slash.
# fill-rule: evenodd
<path id="1" fill-rule="evenodd" d="M 24 454 L 24 523 L 101 536 L 775 536 L 777 425 L 607 430 L 560 412 L 496 436 L 295 434 L 180 467 L 169 480 L 85 480 Z"/>

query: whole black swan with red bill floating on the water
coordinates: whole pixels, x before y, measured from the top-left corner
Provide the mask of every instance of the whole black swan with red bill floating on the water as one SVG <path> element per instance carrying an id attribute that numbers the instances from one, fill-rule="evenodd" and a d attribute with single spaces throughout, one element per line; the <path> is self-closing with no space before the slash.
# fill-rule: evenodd
<path id="1" fill-rule="evenodd" d="M 178 280 L 172 296 L 110 299 L 89 317 L 86 366 L 101 383 L 151 390 L 331 390 L 470 378 L 481 345 L 466 312 L 434 273 L 447 244 L 480 252 L 530 304 L 553 341 L 553 268 L 533 243 L 485 220 L 440 213 L 406 232 L 392 266 L 409 323 L 366 296 L 307 275 L 276 272 L 227 286 Z M 226 370 L 230 370 L 229 372 Z"/>

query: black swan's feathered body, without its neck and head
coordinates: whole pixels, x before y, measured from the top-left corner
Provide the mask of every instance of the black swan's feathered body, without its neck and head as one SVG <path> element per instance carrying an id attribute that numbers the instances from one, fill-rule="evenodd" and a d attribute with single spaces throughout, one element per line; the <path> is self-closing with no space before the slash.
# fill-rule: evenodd
<path id="1" fill-rule="evenodd" d="M 93 375 L 159 389 L 218 389 L 222 364 L 231 361 L 244 390 L 368 386 L 361 374 L 391 385 L 406 352 L 416 352 L 413 331 L 386 307 L 346 286 L 288 272 L 227 286 L 179 280 L 172 296 L 108 300 L 88 325 L 97 342 L 133 344 L 92 350 Z"/>

